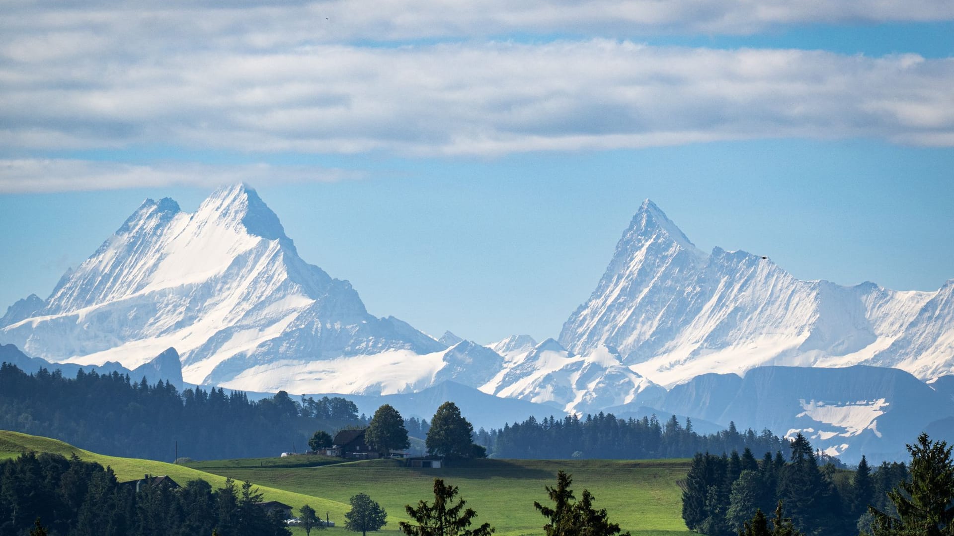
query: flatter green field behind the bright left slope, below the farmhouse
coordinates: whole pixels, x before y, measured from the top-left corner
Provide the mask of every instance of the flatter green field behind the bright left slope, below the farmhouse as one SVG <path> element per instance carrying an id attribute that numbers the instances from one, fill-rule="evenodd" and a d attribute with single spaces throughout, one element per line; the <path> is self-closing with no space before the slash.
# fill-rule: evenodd
<path id="1" fill-rule="evenodd" d="M 397 522 L 407 519 L 404 505 L 431 501 L 433 479 L 443 478 L 460 488 L 461 497 L 478 512 L 480 523 L 490 523 L 505 536 L 542 534 L 544 518 L 533 502 L 547 502 L 544 485 L 555 484 L 557 470 L 564 469 L 572 474 L 577 497 L 584 488 L 589 489 L 595 505 L 607 508 L 611 521 L 634 536 L 689 534 L 680 517 L 681 491 L 676 484 L 688 471 L 685 460 L 481 460 L 438 470 L 409 469 L 384 460 L 302 468 L 240 462 L 204 467 L 222 476 L 339 503 L 347 503 L 363 491 L 387 510 L 390 522 L 385 532 L 395 531 Z M 334 521 L 335 513 L 331 516 Z"/>

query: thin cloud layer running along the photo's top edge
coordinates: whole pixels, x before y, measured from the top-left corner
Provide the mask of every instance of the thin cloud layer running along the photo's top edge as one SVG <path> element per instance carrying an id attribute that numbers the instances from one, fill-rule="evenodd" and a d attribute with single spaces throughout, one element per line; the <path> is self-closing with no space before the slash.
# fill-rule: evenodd
<path id="1" fill-rule="evenodd" d="M 779 25 L 949 21 L 947 0 L 348 0 L 8 2 L 7 33 L 29 36 L 13 50 L 32 57 L 114 50 L 266 50 L 342 40 L 414 40 L 520 34 L 604 37 L 647 34 L 748 34 Z M 36 30 L 45 35 L 36 36 Z M 89 39 L 78 39 L 88 34 Z M 93 38 L 96 36 L 96 38 Z M 8 37 L 9 38 L 9 37 Z M 14 41 L 20 42 L 16 38 Z M 75 42 L 74 46 L 71 43 Z"/>

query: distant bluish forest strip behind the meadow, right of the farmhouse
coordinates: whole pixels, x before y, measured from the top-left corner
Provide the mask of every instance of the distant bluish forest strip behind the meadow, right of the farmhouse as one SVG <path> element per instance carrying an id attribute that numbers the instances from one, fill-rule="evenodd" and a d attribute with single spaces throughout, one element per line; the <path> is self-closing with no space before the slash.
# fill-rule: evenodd
<path id="1" fill-rule="evenodd" d="M 690 419 L 682 425 L 675 416 L 660 423 L 655 416 L 623 420 L 600 412 L 583 419 L 573 415 L 537 421 L 530 417 L 502 429 L 481 429 L 477 443 L 498 458 L 558 460 L 689 458 L 695 452 L 741 451 L 746 447 L 754 452 L 775 452 L 787 442 L 769 430 L 740 433 L 735 423 L 722 432 L 699 435 Z"/>

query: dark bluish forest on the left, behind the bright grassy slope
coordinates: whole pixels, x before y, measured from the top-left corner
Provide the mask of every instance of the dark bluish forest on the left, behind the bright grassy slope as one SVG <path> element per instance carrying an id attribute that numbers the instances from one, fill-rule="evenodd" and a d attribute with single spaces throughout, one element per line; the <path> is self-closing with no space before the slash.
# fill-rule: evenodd
<path id="1" fill-rule="evenodd" d="M 275 456 L 303 449 L 315 429 L 361 425 L 358 408 L 341 398 L 258 402 L 240 391 L 150 385 L 118 373 L 82 372 L 75 379 L 40 369 L 29 375 L 0 365 L 0 429 L 42 435 L 103 454 L 169 460 Z"/>

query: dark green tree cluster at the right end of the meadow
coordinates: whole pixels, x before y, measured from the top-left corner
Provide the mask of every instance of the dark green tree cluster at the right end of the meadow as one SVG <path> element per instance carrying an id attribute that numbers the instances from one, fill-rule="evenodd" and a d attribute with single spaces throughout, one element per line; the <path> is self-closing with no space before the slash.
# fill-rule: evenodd
<path id="1" fill-rule="evenodd" d="M 757 460 L 749 448 L 741 455 L 735 450 L 729 456 L 697 453 L 683 483 L 686 526 L 711 536 L 790 534 L 779 506 L 784 505 L 792 530 L 854 536 L 870 524 L 869 505 L 894 512 L 889 491 L 907 479 L 904 464 L 885 462 L 872 471 L 862 457 L 849 475 L 833 464 L 820 465 L 801 434 L 790 450 L 788 461 L 780 451 Z M 778 532 L 762 532 L 768 521 L 763 512 L 774 510 Z"/>

